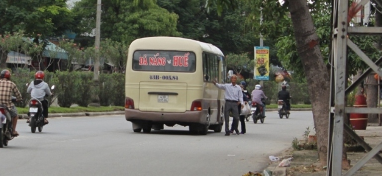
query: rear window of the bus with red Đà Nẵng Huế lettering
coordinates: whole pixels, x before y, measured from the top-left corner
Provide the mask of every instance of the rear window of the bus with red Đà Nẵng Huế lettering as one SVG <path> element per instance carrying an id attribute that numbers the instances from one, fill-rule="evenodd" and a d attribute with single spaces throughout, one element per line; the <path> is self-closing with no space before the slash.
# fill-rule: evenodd
<path id="1" fill-rule="evenodd" d="M 189 51 L 135 51 L 133 70 L 195 72 L 195 53 Z"/>

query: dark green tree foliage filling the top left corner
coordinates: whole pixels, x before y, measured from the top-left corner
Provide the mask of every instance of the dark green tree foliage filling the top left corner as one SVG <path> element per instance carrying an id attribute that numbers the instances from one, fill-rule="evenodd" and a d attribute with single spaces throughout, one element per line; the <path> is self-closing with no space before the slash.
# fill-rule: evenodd
<path id="1" fill-rule="evenodd" d="M 66 0 L 0 0 L 0 34 L 25 31 L 43 38 L 61 35 L 73 27 Z"/>

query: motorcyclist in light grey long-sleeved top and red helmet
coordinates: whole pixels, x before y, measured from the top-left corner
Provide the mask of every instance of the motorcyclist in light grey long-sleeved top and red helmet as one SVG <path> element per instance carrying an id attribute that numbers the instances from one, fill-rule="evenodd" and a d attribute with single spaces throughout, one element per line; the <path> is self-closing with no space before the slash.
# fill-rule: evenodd
<path id="1" fill-rule="evenodd" d="M 44 123 L 48 124 L 49 122 L 46 119 L 48 118 L 48 100 L 44 99 L 44 97 L 45 95 L 52 95 L 52 92 L 50 91 L 48 84 L 44 82 L 44 76 L 45 74 L 43 71 L 37 71 L 34 75 L 35 80 L 29 84 L 27 91 L 32 98 L 40 100 L 43 108 L 42 115 L 44 116 Z M 27 123 L 29 122 L 30 119 L 27 120 Z"/>

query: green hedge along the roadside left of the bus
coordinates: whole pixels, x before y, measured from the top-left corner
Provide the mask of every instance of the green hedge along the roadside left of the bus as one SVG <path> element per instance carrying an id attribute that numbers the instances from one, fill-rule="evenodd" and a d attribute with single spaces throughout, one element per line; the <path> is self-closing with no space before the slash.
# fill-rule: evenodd
<path id="1" fill-rule="evenodd" d="M 45 71 L 44 81 L 49 86 L 55 85 L 54 96 L 50 101 L 57 98 L 58 105 L 61 107 L 70 107 L 78 104 L 87 107 L 93 102 L 94 94 L 98 95 L 102 106 L 124 106 L 125 100 L 125 75 L 119 73 L 100 74 L 98 86 L 94 84 L 93 72 L 68 72 L 57 71 L 50 73 Z M 35 72 L 29 72 L 27 69 L 17 69 L 12 72 L 11 80 L 17 85 L 23 100 L 16 103 L 17 107 L 25 107 L 30 99 L 27 93 L 27 86 L 34 80 Z"/>

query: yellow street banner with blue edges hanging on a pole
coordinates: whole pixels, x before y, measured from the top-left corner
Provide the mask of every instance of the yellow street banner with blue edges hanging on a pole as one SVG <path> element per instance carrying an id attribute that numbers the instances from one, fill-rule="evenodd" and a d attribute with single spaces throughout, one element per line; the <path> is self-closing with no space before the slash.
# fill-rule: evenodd
<path id="1" fill-rule="evenodd" d="M 255 80 L 269 80 L 269 47 L 255 46 Z"/>

